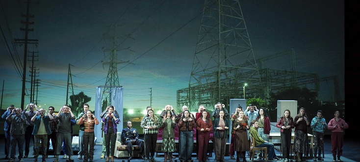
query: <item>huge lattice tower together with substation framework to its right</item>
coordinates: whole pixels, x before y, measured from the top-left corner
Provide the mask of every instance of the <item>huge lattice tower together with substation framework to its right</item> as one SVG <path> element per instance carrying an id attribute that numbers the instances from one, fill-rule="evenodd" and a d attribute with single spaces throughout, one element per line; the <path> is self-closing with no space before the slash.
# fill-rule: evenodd
<path id="1" fill-rule="evenodd" d="M 262 68 L 279 57 L 290 58 L 291 70 Z M 318 92 L 320 81 L 334 81 L 335 100 L 341 100 L 336 76 L 297 72 L 295 60 L 293 49 L 255 59 L 239 1 L 205 0 L 189 86 L 177 91 L 177 108 L 213 108 L 216 102 L 247 96 L 266 101 L 270 92 L 292 86 Z"/>

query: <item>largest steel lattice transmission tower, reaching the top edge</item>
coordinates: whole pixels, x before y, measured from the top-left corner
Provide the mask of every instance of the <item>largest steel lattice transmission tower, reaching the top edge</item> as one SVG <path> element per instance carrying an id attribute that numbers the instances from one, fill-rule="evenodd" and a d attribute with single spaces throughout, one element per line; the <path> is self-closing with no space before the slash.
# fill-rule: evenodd
<path id="1" fill-rule="evenodd" d="M 205 0 L 189 87 L 178 90 L 178 108 L 242 98 L 246 81 L 263 95 L 239 1 Z"/>

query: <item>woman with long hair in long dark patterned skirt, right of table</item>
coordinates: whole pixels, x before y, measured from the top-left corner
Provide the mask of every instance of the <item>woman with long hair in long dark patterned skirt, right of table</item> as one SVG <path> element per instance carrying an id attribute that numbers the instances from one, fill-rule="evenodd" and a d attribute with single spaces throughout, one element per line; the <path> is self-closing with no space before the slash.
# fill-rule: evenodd
<path id="1" fill-rule="evenodd" d="M 302 161 L 303 154 L 309 150 L 308 147 L 308 127 L 310 126 L 309 118 L 306 115 L 305 108 L 300 108 L 298 115 L 294 118 L 295 136 L 294 136 L 294 153 L 298 157 L 298 162 Z"/>

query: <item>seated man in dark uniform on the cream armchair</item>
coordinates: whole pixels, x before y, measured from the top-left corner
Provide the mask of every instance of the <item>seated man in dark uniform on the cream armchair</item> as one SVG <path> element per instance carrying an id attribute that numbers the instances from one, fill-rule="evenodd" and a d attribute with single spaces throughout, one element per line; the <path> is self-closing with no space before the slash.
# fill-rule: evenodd
<path id="1" fill-rule="evenodd" d="M 132 159 L 132 144 L 139 145 L 140 147 L 140 155 L 142 156 L 142 159 L 145 159 L 145 156 L 143 155 L 144 151 L 144 141 L 139 139 L 139 134 L 137 133 L 135 128 L 132 127 L 131 121 L 128 121 L 128 127 L 123 129 L 121 132 L 121 139 L 124 141 L 124 144 L 128 145 L 128 153 L 130 155 L 129 160 Z"/>

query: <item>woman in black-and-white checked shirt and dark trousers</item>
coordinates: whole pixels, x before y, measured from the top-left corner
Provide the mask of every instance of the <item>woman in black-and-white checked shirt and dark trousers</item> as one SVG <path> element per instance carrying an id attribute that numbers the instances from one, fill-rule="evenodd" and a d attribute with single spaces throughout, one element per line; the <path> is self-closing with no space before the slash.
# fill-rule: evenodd
<path id="1" fill-rule="evenodd" d="M 144 141 L 146 142 L 146 158 L 148 162 L 154 162 L 156 149 L 156 139 L 158 129 L 160 128 L 160 120 L 154 115 L 154 110 L 149 109 L 148 115 L 141 121 L 141 128 L 144 128 Z"/>

